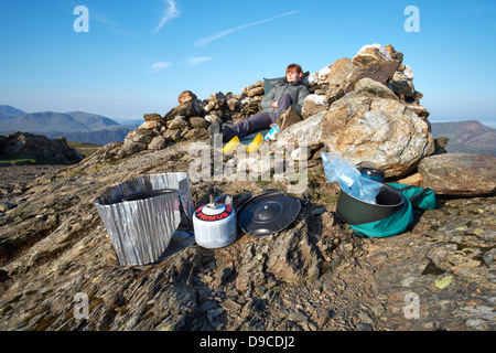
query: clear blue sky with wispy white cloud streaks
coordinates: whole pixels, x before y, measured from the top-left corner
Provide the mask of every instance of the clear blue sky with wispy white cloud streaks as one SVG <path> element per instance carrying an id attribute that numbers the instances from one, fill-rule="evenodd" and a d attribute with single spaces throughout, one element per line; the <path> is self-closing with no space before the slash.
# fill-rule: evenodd
<path id="1" fill-rule="evenodd" d="M 89 32 L 74 30 L 78 6 Z M 408 6 L 420 32 L 405 30 Z M 405 54 L 431 121 L 496 127 L 495 42 L 493 0 L 0 0 L 0 104 L 142 119 L 185 89 L 239 94 L 379 43 Z"/>

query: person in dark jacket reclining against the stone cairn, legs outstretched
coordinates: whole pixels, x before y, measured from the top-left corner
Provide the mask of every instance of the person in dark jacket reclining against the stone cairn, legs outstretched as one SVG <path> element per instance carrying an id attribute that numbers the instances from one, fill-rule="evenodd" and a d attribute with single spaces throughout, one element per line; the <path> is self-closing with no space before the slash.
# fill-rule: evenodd
<path id="1" fill-rule="evenodd" d="M 242 138 L 252 132 L 269 129 L 280 115 L 291 106 L 298 115 L 301 115 L 303 101 L 310 94 L 309 84 L 303 78 L 304 74 L 300 65 L 289 65 L 285 69 L 285 78 L 278 82 L 260 101 L 262 113 L 231 126 L 223 126 L 220 121 L 214 121 L 209 126 L 208 139 L 211 146 L 214 145 L 215 133 L 222 133 L 223 141 L 226 142 L 235 136 Z"/>

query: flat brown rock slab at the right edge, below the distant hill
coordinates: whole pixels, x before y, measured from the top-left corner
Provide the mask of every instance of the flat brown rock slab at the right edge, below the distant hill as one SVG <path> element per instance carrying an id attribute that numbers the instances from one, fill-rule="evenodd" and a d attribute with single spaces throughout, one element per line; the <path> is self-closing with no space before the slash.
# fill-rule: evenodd
<path id="1" fill-rule="evenodd" d="M 423 159 L 419 172 L 425 188 L 442 195 L 478 196 L 496 191 L 496 158 L 444 153 Z"/>

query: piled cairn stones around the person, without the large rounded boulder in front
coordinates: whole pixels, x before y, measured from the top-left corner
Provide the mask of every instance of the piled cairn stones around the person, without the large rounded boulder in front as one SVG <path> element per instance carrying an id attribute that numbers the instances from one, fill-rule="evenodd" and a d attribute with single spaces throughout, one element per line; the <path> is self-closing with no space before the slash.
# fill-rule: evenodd
<path id="1" fill-rule="evenodd" d="M 392 45 L 365 45 L 353 58 L 337 60 L 311 74 L 308 77 L 311 95 L 304 101 L 303 118 L 328 110 L 360 82 L 360 90 L 396 99 L 429 125 L 429 111 L 420 105 L 422 94 L 413 86 L 414 75 L 402 61 L 403 54 Z M 164 116 L 145 114 L 144 122 L 126 137 L 119 156 L 160 150 L 183 140 L 206 140 L 208 126 L 215 120 L 234 124 L 261 111 L 263 95 L 261 81 L 244 87 L 239 95 L 218 92 L 203 100 L 184 90 L 177 98 L 179 105 Z"/>

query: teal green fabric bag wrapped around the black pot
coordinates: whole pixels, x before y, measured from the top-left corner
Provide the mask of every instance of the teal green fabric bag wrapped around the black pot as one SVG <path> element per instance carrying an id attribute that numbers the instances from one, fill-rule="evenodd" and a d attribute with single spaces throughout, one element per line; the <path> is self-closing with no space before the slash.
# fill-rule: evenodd
<path id="1" fill-rule="evenodd" d="M 413 208 L 428 211 L 439 207 L 434 191 L 419 186 L 388 183 L 405 196 L 403 206 L 382 220 L 365 224 L 348 224 L 359 235 L 369 237 L 388 237 L 405 232 L 413 223 Z"/>

